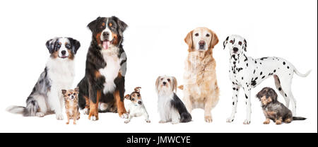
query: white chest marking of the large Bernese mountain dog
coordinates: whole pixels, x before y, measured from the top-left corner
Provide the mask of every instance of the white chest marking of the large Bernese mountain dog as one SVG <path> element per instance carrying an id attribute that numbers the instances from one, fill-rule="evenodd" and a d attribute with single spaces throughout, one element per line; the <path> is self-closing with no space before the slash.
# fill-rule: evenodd
<path id="1" fill-rule="evenodd" d="M 101 51 L 102 57 L 106 62 L 106 66 L 103 69 L 99 69 L 100 74 L 105 76 L 105 83 L 104 83 L 104 93 L 112 93 L 116 85 L 114 84 L 114 79 L 117 78 L 119 69 L 120 69 L 120 62 L 121 60 L 118 58 L 118 49 L 103 49 Z"/>

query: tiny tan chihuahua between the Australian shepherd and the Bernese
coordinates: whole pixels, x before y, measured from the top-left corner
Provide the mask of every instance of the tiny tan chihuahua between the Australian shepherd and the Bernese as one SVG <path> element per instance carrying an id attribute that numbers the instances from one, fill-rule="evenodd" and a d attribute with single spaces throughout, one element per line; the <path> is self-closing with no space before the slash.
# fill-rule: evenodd
<path id="1" fill-rule="evenodd" d="M 65 111 L 67 115 L 67 122 L 69 119 L 73 119 L 73 124 L 76 124 L 76 120 L 80 119 L 80 112 L 78 112 L 78 88 L 74 90 L 61 90 L 65 101 Z"/>

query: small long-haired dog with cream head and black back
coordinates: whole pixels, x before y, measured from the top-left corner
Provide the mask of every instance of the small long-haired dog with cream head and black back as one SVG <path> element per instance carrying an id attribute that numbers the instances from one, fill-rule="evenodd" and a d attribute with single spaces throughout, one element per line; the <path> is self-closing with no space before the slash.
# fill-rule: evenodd
<path id="1" fill-rule="evenodd" d="M 173 76 L 159 76 L 155 81 L 155 88 L 158 94 L 158 111 L 160 122 L 190 122 L 191 114 L 183 102 L 177 97 L 177 79 Z"/>

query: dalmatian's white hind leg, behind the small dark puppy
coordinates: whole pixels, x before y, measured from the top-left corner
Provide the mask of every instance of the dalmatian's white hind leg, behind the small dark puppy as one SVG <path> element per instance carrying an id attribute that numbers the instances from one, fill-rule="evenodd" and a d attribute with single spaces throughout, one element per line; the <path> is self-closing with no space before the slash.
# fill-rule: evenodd
<path id="1" fill-rule="evenodd" d="M 282 77 L 279 77 L 279 79 L 281 79 L 281 88 L 284 90 L 283 95 L 285 96 L 285 98 L 288 98 L 289 100 L 291 100 L 291 104 L 293 108 L 292 109 L 293 116 L 296 116 L 296 100 L 291 91 L 292 78 L 290 77 L 285 78 L 285 76 L 282 76 Z"/>

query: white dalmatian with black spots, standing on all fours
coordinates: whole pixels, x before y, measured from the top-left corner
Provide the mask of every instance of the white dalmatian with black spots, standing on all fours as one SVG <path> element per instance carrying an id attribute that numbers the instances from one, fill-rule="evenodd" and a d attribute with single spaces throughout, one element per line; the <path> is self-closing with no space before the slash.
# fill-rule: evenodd
<path id="1" fill-rule="evenodd" d="M 289 61 L 278 57 L 263 57 L 253 59 L 247 57 L 247 42 L 240 35 L 231 35 L 223 42 L 223 47 L 230 49 L 230 81 L 232 81 L 232 113 L 226 120 L 233 122 L 237 110 L 237 97 L 240 88 L 245 92 L 246 119 L 243 124 L 251 123 L 251 89 L 259 85 L 262 81 L 270 76 L 275 80 L 276 88 L 285 98 L 286 107 L 291 104 L 293 107 L 293 116 L 296 116 L 296 100 L 293 97 L 290 86 L 293 74 L 306 77 L 310 73 L 300 73 Z"/>

